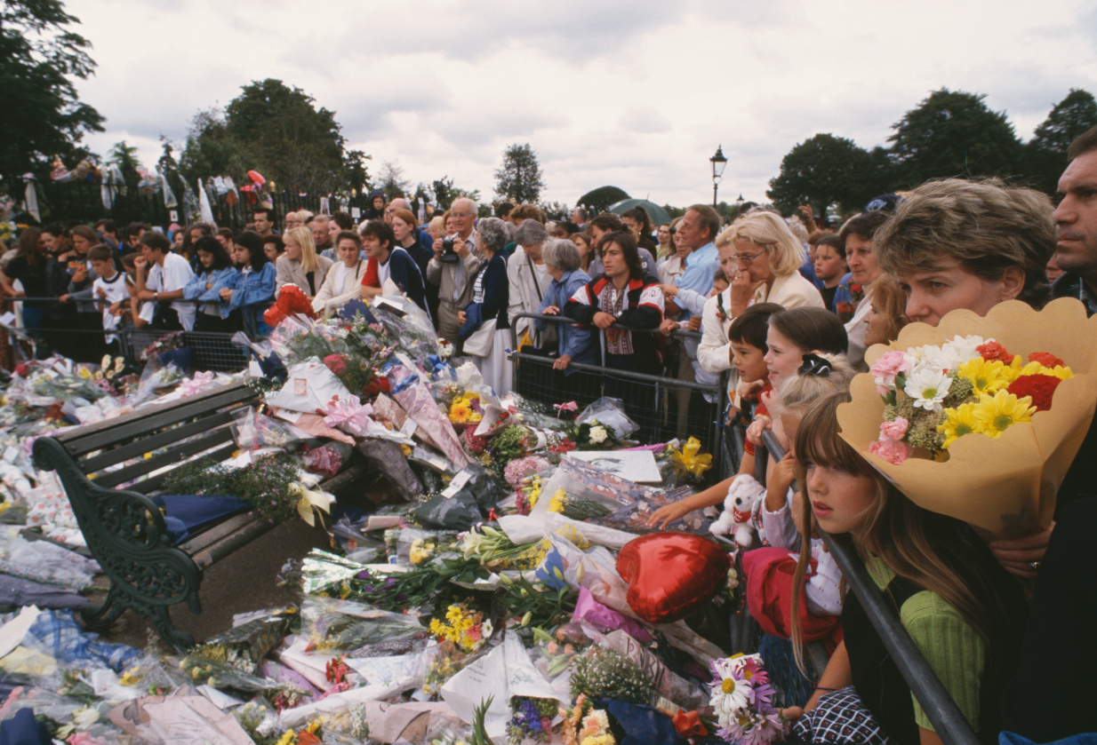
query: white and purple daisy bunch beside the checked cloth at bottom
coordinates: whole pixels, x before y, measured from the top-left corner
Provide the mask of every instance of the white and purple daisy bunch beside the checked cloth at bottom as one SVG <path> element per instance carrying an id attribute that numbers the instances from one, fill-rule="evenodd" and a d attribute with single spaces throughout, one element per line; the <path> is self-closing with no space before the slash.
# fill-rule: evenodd
<path id="1" fill-rule="evenodd" d="M 759 745 L 783 740 L 789 720 L 773 708 L 773 688 L 761 656 L 735 655 L 712 663 L 710 704 L 726 743 Z"/>

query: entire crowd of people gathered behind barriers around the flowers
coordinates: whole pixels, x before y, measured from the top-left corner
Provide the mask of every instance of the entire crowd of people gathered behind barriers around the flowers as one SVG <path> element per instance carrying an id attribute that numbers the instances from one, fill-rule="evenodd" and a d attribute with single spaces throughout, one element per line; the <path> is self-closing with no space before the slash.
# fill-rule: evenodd
<path id="1" fill-rule="evenodd" d="M 406 200 L 376 194 L 359 226 L 344 214 L 291 213 L 281 233 L 278 216 L 262 208 L 237 234 L 203 224 L 167 233 L 136 224 L 118 233 L 109 220 L 30 228 L 0 278 L 10 297 L 27 298 L 22 321 L 32 330 L 148 324 L 258 336 L 270 331 L 262 311 L 285 286 L 319 313 L 404 296 L 500 397 L 516 382 L 511 351 L 551 358 L 553 398 L 580 404 L 597 394 L 596 382 L 576 364 L 689 382 L 726 375 L 727 416 L 747 428 L 740 474 L 753 473 L 765 428 L 788 451 L 770 463 L 754 518 L 769 545 L 800 557 L 790 635 L 802 640 L 826 619 L 845 629 L 807 706 L 787 712 L 800 721 L 799 736 L 822 737 L 858 711 L 857 735 L 845 741 L 881 742 L 871 737 L 882 727 L 904 745 L 939 742 L 844 592 L 815 537 L 824 530 L 847 536 L 867 559 L 983 740 L 1009 729 L 1048 742 L 1093 730 L 1094 686 L 1084 678 L 1094 604 L 1072 558 L 1093 524 L 1097 436 L 1086 437 L 1059 492 L 1056 517 L 1070 527 L 988 545 L 881 477 L 839 437 L 836 411 L 853 375 L 868 369 L 866 349 L 894 341 L 907 323 L 937 325 L 957 309 L 984 316 L 1007 300 L 1040 308 L 1052 297 L 1097 311 L 1097 128 L 1070 156 L 1058 207 L 1000 181 L 947 179 L 834 222 L 807 207 L 784 217 L 745 205 L 723 225 L 700 204 L 659 226 L 642 208 L 580 207 L 547 220 L 535 205 L 502 204 L 477 219 L 478 206 L 461 198 L 419 225 Z M 677 330 L 700 339 L 675 337 Z M 653 415 L 651 393 L 627 377 L 604 385 L 638 421 Z M 704 400 L 686 389 L 674 403 L 685 429 Z M 663 507 L 651 525 L 723 503 L 735 478 Z M 1018 578 L 1039 578 L 1031 614 Z M 1040 685 L 1018 681 L 1019 665 L 1043 671 Z"/>

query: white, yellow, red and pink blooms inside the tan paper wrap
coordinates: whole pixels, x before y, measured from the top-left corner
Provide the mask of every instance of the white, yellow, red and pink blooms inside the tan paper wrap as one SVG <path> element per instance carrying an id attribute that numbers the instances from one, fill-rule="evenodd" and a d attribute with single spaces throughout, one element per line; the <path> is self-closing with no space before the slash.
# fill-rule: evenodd
<path id="1" fill-rule="evenodd" d="M 993 339 L 954 336 L 941 345 L 887 352 L 872 365 L 884 399 L 880 438 L 869 452 L 898 465 L 916 449 L 943 459 L 959 437 L 997 438 L 1051 409 L 1055 388 L 1074 374 L 1047 352 L 1028 362 Z"/>

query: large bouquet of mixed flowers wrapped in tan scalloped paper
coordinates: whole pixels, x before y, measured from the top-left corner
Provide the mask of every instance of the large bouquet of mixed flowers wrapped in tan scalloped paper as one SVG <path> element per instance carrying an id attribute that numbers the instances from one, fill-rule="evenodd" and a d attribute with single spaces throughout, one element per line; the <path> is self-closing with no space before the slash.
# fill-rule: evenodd
<path id="1" fill-rule="evenodd" d="M 1097 404 L 1097 318 L 1081 302 L 955 310 L 866 362 L 841 437 L 915 504 L 995 538 L 1051 523 Z"/>

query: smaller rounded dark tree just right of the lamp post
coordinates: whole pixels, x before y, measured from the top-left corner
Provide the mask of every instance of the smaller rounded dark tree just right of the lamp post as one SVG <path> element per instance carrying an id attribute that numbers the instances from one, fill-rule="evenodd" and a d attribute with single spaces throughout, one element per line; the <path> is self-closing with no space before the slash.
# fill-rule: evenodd
<path id="1" fill-rule="evenodd" d="M 882 190 L 872 154 L 852 140 L 829 134 L 800 142 L 781 160 L 766 196 L 785 215 L 810 204 L 819 215 L 834 204 L 863 205 Z"/>

